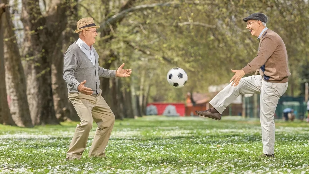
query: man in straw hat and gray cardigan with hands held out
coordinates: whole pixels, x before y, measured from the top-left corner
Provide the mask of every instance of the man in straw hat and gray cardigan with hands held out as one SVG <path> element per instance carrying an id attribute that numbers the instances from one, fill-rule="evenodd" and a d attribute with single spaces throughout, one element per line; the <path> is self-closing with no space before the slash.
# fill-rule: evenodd
<path id="1" fill-rule="evenodd" d="M 80 123 L 66 154 L 66 159 L 80 159 L 88 141 L 93 120 L 98 127 L 89 151 L 89 157 L 106 157 L 105 148 L 115 123 L 115 116 L 101 96 L 99 77 L 129 77 L 132 70 L 106 70 L 98 64 L 99 55 L 93 47 L 97 29 L 91 17 L 77 22 L 79 39 L 64 54 L 63 79 L 67 83 L 68 98 L 74 105 Z"/>

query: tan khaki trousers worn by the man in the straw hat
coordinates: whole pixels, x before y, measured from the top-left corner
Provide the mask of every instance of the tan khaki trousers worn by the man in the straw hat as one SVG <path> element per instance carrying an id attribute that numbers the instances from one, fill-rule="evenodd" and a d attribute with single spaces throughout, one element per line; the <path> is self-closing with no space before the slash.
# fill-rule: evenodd
<path id="1" fill-rule="evenodd" d="M 115 116 L 101 96 L 101 92 L 95 96 L 68 93 L 68 98 L 77 111 L 80 123 L 76 126 L 67 157 L 80 158 L 82 156 L 87 145 L 93 120 L 97 123 L 98 127 L 89 151 L 89 157 L 105 157 L 105 148 L 112 133 Z"/>

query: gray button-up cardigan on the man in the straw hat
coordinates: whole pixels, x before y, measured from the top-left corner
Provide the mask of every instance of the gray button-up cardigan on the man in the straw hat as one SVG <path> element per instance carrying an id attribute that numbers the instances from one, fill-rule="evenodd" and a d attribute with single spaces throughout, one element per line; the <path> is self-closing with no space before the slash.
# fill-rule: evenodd
<path id="1" fill-rule="evenodd" d="M 63 79 L 67 83 L 69 93 L 78 93 L 78 85 L 86 80 L 85 87 L 91 88 L 92 95 L 101 92 L 99 77 L 116 77 L 116 70 L 106 70 L 99 66 L 99 55 L 93 48 L 95 64 L 74 42 L 64 53 Z"/>

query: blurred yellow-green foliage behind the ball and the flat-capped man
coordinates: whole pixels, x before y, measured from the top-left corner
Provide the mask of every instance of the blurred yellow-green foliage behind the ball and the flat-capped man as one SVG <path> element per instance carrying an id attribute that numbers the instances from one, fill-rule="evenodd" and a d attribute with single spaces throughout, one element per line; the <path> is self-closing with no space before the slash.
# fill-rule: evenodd
<path id="1" fill-rule="evenodd" d="M 165 1 L 161 1 L 164 3 Z M 251 36 L 242 18 L 254 12 L 268 16 L 267 27 L 277 32 L 286 44 L 292 76 L 286 92 L 298 95 L 308 60 L 307 39 L 309 6 L 307 1 L 174 1 L 174 5 L 136 10 L 117 24 L 111 36 L 97 40 L 101 62 L 113 52 L 126 67 L 133 69 L 132 81 L 139 90 L 141 75 L 151 86 L 150 101 L 183 101 L 189 91 L 208 92 L 209 85 L 228 83 L 231 69 L 241 69 L 257 54 L 259 40 Z M 160 3 L 136 1 L 133 7 Z M 92 16 L 102 24 L 120 12 L 122 4 L 110 1 L 82 1 L 81 17 Z M 104 61 L 103 61 L 104 60 Z M 181 67 L 188 74 L 183 89 L 173 89 L 166 81 L 170 68 Z M 113 67 L 117 68 L 117 67 Z"/>

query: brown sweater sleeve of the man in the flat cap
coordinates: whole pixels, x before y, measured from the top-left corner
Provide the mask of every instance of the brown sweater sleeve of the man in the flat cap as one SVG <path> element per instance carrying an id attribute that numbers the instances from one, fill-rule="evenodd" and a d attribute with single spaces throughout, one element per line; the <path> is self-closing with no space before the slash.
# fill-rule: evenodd
<path id="1" fill-rule="evenodd" d="M 261 42 L 261 46 L 257 56 L 250 63 L 248 63 L 242 70 L 244 70 L 245 74 L 250 74 L 256 71 L 262 65 L 265 64 L 265 62 L 276 50 L 276 48 L 277 43 L 274 41 L 274 38 L 271 36 L 265 36 L 263 38 L 263 41 Z"/>

